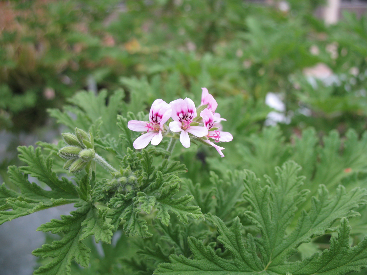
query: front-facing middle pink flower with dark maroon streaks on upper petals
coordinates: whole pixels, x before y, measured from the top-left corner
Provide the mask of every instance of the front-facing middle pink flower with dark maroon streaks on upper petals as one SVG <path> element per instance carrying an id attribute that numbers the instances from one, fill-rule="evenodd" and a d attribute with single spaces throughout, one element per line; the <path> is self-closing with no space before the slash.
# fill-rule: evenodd
<path id="1" fill-rule="evenodd" d="M 195 103 L 189 99 L 176 99 L 170 102 L 172 106 L 172 118 L 170 130 L 172 132 L 181 132 L 180 142 L 183 147 L 190 147 L 189 133 L 197 137 L 203 137 L 208 134 L 208 129 L 203 126 L 190 126 L 190 123 L 196 117 Z"/>

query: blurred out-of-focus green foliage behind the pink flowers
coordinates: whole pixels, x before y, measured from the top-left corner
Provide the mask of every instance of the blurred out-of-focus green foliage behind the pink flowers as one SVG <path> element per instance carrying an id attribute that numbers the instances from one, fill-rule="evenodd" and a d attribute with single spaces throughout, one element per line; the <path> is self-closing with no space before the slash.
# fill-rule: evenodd
<path id="1" fill-rule="evenodd" d="M 227 169 L 246 168 L 261 178 L 274 176 L 275 166 L 289 159 L 303 167 L 312 194 L 319 184 L 331 193 L 339 183 L 348 190 L 366 187 L 367 16 L 346 13 L 325 26 L 313 16 L 322 1 L 290 0 L 287 9 L 274 2 L 1 2 L 0 131 L 12 139 L 0 159 L 1 177 L 7 182 L 7 166 L 17 164 L 15 147 L 27 143 L 24 135 L 50 141 L 58 125 L 88 129 L 100 117 L 117 122 L 116 113 L 147 111 L 157 98 L 188 96 L 199 103 L 207 87 L 234 139 L 225 144 L 224 159 L 210 148 L 175 148 L 188 168 L 183 177 L 191 193 L 193 183 L 204 191 L 220 185 L 210 171 L 232 179 Z M 90 92 L 75 94 L 81 89 Z M 267 126 L 275 123 L 268 116 L 275 110 L 265 103 L 269 92 L 283 102 L 276 127 Z M 83 102 L 93 103 L 87 108 Z M 117 139 L 112 122 L 102 124 L 103 132 Z M 210 212 L 230 220 L 241 211 Z M 360 213 L 359 223 L 351 220 L 355 242 L 367 233 L 366 210 Z M 120 238 L 116 249 L 124 242 Z"/>

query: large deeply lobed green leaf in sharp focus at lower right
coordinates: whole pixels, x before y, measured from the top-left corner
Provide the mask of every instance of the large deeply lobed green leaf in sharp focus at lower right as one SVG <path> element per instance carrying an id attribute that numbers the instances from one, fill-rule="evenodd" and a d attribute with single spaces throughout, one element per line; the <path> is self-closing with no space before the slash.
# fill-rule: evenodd
<path id="1" fill-rule="evenodd" d="M 171 263 L 160 264 L 154 274 L 348 274 L 366 267 L 366 241 L 352 248 L 349 246 L 350 227 L 346 218 L 358 215 L 353 209 L 366 203 L 367 190 L 356 188 L 346 192 L 340 186 L 335 199 L 320 186 L 319 196 L 312 198 L 311 210 L 303 211 L 297 226 L 286 233 L 297 206 L 308 193 L 308 190 L 300 190 L 304 177 L 297 175 L 299 169 L 294 162 L 286 162 L 281 169 L 277 168 L 277 181 L 268 177 L 268 185 L 262 188 L 255 174 L 246 172 L 243 195 L 251 209 L 245 215 L 261 232 L 260 237 L 248 233 L 245 244 L 238 218 L 227 227 L 219 217 L 209 214 L 208 219 L 217 227 L 218 241 L 232 257 L 222 258 L 211 246 L 204 246 L 203 242 L 190 237 L 193 259 L 172 255 Z M 301 243 L 335 231 L 331 226 L 341 217 L 341 226 L 336 229 L 338 239 L 331 238 L 330 249 L 303 261 L 287 261 Z"/>

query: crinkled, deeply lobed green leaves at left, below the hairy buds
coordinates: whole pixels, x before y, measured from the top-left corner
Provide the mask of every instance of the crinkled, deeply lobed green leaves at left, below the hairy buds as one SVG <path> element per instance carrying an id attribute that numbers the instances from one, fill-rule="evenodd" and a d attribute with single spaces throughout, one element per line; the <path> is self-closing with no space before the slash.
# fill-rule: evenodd
<path id="1" fill-rule="evenodd" d="M 88 118 L 87 115 L 85 117 Z M 124 120 L 119 123 L 121 122 Z M 96 140 L 100 140 L 102 131 L 108 130 L 96 131 Z M 85 161 L 80 153 L 83 150 L 94 151 L 94 138 L 83 130 L 76 128 L 75 135 L 65 134 L 64 139 L 68 145 L 75 143 L 79 144 L 79 147 L 62 147 L 59 155 L 63 158 L 71 157 L 74 162 L 75 158 Z M 149 153 L 145 149 L 137 152 L 127 148 L 119 171 L 95 153 L 98 158 L 96 162 L 101 165 L 93 171 L 89 165 L 86 172 L 76 174 L 73 180 L 77 185 L 74 185 L 65 177 L 59 179 L 52 168 L 53 160 L 60 160 L 57 154 L 59 147 L 46 148 L 50 152 L 47 157 L 40 147 L 19 147 L 19 159 L 27 166 L 10 166 L 8 171 L 11 182 L 17 186 L 19 192 L 6 188 L 4 184 L 0 188 L 0 223 L 66 203 L 75 203 L 77 208 L 69 216 L 61 216 L 61 220 L 51 220 L 38 228 L 44 232 L 62 234 L 62 238 L 34 250 L 35 256 L 51 258 L 34 274 L 70 274 L 72 261 L 87 267 L 90 248 L 84 244 L 84 240 L 94 235 L 95 242 L 111 243 L 113 233 L 121 222 L 127 235 L 137 234 L 146 238 L 152 236 L 148 231 L 148 222 L 150 224 L 153 217 L 160 219 L 161 223 L 167 226 L 170 213 L 186 224 L 189 223 L 189 217 L 199 219 L 203 216 L 198 206 L 188 205 L 193 199 L 191 195 L 176 198 L 181 181 L 177 175 L 186 172 L 185 165 L 168 159 L 164 159 L 157 168 L 153 165 L 153 155 L 160 155 L 160 150 L 155 151 L 151 148 Z M 74 156 L 70 148 L 77 148 L 79 151 Z M 99 148 L 103 147 L 100 145 Z M 62 163 L 58 165 L 62 166 Z M 99 173 L 103 168 L 110 170 L 110 173 Z M 69 172 L 75 171 L 70 169 Z M 30 183 L 28 175 L 36 178 L 37 183 Z M 96 182 L 96 175 L 108 177 Z M 122 180 L 123 178 L 126 180 Z M 43 188 L 44 186 L 51 190 Z M 142 211 L 147 215 L 142 215 Z"/>

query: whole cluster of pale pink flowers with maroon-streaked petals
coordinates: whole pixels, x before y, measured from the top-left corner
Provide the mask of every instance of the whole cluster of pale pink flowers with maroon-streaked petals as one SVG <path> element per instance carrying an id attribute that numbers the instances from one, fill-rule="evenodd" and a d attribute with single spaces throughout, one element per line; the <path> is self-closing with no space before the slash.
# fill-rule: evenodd
<path id="1" fill-rule="evenodd" d="M 130 120 L 128 128 L 136 132 L 145 132 L 134 141 L 134 148 L 146 147 L 149 142 L 158 145 L 163 136 L 178 138 L 183 147 L 190 147 L 190 139 L 199 140 L 214 147 L 221 157 L 223 147 L 215 143 L 229 142 L 233 139 L 229 132 L 222 131 L 221 118 L 215 113 L 218 103 L 209 94 L 207 88 L 201 88 L 201 104 L 196 109 L 195 103 L 189 99 L 176 99 L 168 104 L 162 99 L 156 99 L 149 111 L 149 121 Z M 197 113 L 200 111 L 200 115 Z M 166 122 L 169 122 L 168 126 Z"/>

